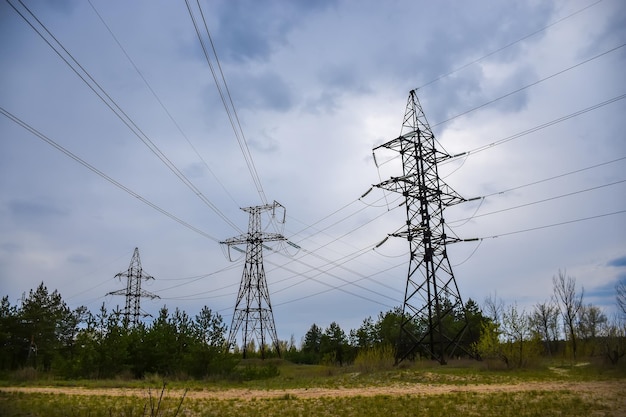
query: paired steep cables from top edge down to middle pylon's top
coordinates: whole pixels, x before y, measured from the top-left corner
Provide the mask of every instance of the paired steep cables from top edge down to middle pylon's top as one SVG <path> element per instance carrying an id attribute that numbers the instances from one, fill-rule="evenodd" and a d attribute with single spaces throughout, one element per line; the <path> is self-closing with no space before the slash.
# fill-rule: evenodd
<path id="1" fill-rule="evenodd" d="M 200 6 L 200 2 L 197 1 L 197 5 L 198 5 L 198 9 L 200 11 L 200 16 L 202 18 L 202 22 L 204 24 L 204 29 L 206 31 L 206 34 L 209 38 L 210 44 L 211 44 L 211 49 L 213 51 L 213 55 L 215 57 L 215 61 L 217 62 L 218 68 L 219 68 L 219 72 L 220 75 L 222 77 L 222 83 L 224 85 L 224 89 L 226 90 L 226 95 L 228 96 L 228 100 L 230 102 L 230 106 L 228 104 L 228 102 L 226 101 L 226 97 L 224 95 L 224 92 L 222 91 L 222 83 L 220 83 L 220 81 L 218 80 L 217 74 L 215 69 L 213 68 L 213 64 L 211 62 L 210 59 L 210 54 L 209 51 L 206 47 L 206 44 L 204 42 L 204 39 L 202 37 L 202 34 L 200 33 L 200 28 L 198 27 L 198 24 L 196 22 L 196 18 L 194 16 L 194 13 L 192 11 L 191 5 L 189 4 L 189 0 L 185 0 L 185 4 L 187 5 L 187 10 L 189 11 L 189 16 L 191 17 L 191 21 L 193 23 L 194 29 L 196 30 L 196 34 L 198 35 L 198 40 L 200 41 L 200 45 L 202 47 L 202 51 L 204 52 L 204 57 L 206 58 L 207 64 L 209 65 L 209 68 L 211 70 L 211 74 L 213 75 L 213 79 L 215 81 L 215 85 L 217 87 L 218 93 L 220 95 L 220 98 L 222 100 L 222 104 L 224 105 L 224 109 L 226 110 L 226 114 L 228 115 L 228 120 L 230 121 L 230 125 L 233 129 L 233 132 L 235 133 L 235 138 L 237 139 L 237 143 L 239 144 L 239 148 L 241 149 L 241 153 L 243 154 L 244 160 L 246 162 L 246 165 L 248 167 L 248 171 L 250 172 L 250 175 L 252 176 L 252 181 L 254 182 L 254 185 L 256 186 L 257 192 L 259 194 L 259 197 L 261 198 L 261 201 L 263 204 L 267 204 L 267 198 L 265 196 L 265 192 L 263 191 L 263 185 L 261 184 L 261 179 L 259 178 L 258 172 L 256 170 L 256 167 L 254 165 L 254 161 L 252 159 L 252 154 L 250 153 L 250 149 L 248 147 L 248 142 L 246 141 L 245 135 L 243 133 L 243 129 L 241 128 L 241 123 L 239 122 L 239 116 L 237 115 L 237 110 L 235 109 L 235 105 L 233 103 L 232 100 L 232 96 L 230 94 L 230 90 L 228 89 L 228 84 L 226 83 L 226 78 L 224 77 L 224 73 L 222 71 L 222 66 L 219 63 L 219 58 L 217 56 L 217 52 L 215 50 L 215 45 L 213 44 L 213 39 L 211 37 L 211 33 L 209 32 L 209 28 L 208 25 L 206 23 L 206 20 L 204 18 L 204 12 L 202 11 L 202 7 Z M 232 110 L 231 110 L 232 109 Z"/>

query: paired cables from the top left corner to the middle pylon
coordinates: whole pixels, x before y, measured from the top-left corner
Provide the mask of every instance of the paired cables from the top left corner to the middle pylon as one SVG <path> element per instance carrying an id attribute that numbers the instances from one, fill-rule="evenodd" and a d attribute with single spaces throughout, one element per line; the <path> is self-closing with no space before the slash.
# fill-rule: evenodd
<path id="1" fill-rule="evenodd" d="M 100 84 L 91 76 L 91 74 L 89 74 L 89 72 L 83 68 L 83 66 L 73 57 L 73 55 L 63 46 L 63 44 L 61 44 L 61 42 L 59 42 L 58 39 L 56 39 L 56 37 L 47 29 L 47 27 L 33 14 L 33 12 L 26 6 L 24 5 L 24 3 L 22 3 L 21 0 L 18 0 L 18 2 L 22 5 L 22 7 L 24 7 L 24 9 L 26 9 L 26 11 L 32 16 L 32 18 L 41 26 L 41 28 L 43 30 L 45 30 L 45 32 L 54 40 L 54 42 L 56 42 L 56 44 L 58 45 L 58 47 L 60 47 L 63 52 L 65 52 L 65 54 L 67 54 L 67 57 L 63 56 L 63 54 L 61 53 L 61 51 L 55 47 L 49 39 L 46 38 L 46 36 L 38 29 L 35 27 L 35 25 L 21 12 L 19 11 L 15 5 L 13 5 L 13 3 L 11 3 L 11 0 L 7 0 L 7 2 L 9 3 L 9 5 L 13 8 L 13 10 L 15 10 L 16 13 L 18 13 L 20 15 L 20 17 L 22 17 L 22 19 L 24 19 L 24 21 L 44 40 L 44 42 L 46 42 L 46 44 L 48 44 L 48 46 L 50 46 L 50 48 L 52 48 L 52 50 L 63 60 L 63 62 L 65 62 L 70 69 L 72 69 L 72 71 L 74 71 L 74 73 L 76 75 L 78 75 L 78 77 L 100 98 L 100 100 L 102 100 L 102 102 L 111 110 L 113 111 L 113 113 L 131 130 L 131 132 L 133 132 L 133 134 L 140 139 L 144 145 L 146 145 L 148 147 L 148 149 L 150 149 L 150 151 L 152 151 L 152 153 L 154 153 L 154 155 L 156 155 L 161 162 L 163 162 L 169 169 L 170 171 L 172 171 L 172 173 L 174 173 L 174 175 L 176 175 L 178 177 L 178 179 L 180 179 L 191 191 L 193 191 L 193 193 L 200 198 L 200 200 L 207 205 L 211 210 L 213 210 L 213 212 L 215 212 L 215 214 L 217 214 L 222 220 L 224 220 L 224 222 L 226 222 L 228 225 L 230 225 L 231 227 L 233 227 L 235 230 L 241 232 L 241 229 L 235 224 L 233 223 L 230 219 L 228 219 L 228 217 L 226 217 L 224 215 L 224 213 L 222 213 L 217 206 L 215 206 L 177 167 L 176 165 L 174 165 L 174 163 L 172 161 L 169 160 L 169 158 L 167 158 L 167 156 L 159 149 L 159 147 L 152 142 L 152 140 L 150 140 L 150 138 L 135 124 L 135 122 L 130 118 L 130 116 L 128 116 L 124 110 L 122 110 L 122 108 L 115 102 L 115 100 L 113 100 L 113 98 L 100 86 Z M 72 63 L 68 60 L 71 60 L 72 62 L 74 62 L 74 65 L 72 65 Z M 80 69 L 80 71 L 77 69 L 77 67 Z M 90 81 L 88 81 L 87 79 L 89 79 Z"/>

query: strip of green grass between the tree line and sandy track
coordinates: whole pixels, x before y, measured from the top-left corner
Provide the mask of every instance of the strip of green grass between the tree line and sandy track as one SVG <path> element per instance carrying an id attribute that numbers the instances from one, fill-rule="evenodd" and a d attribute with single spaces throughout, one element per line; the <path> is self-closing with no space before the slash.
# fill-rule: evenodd
<path id="1" fill-rule="evenodd" d="M 190 390 L 220 390 L 228 388 L 248 389 L 290 389 L 290 388 L 358 388 L 365 386 L 385 386 L 393 383 L 429 383 L 446 385 L 468 384 L 516 384 L 528 381 L 600 381 L 626 378 L 626 366 L 606 367 L 597 364 L 571 364 L 569 362 L 546 362 L 541 366 L 524 369 L 492 369 L 484 362 L 450 361 L 439 365 L 432 361 L 400 364 L 373 372 L 361 372 L 356 367 L 335 367 L 323 365 L 297 365 L 287 361 L 271 359 L 267 361 L 248 360 L 242 362 L 241 369 L 256 379 L 231 376 L 204 380 L 176 379 L 154 374 L 141 380 L 134 379 L 57 379 L 51 376 L 36 379 L 13 378 L 10 375 L 0 378 L 4 386 L 57 386 L 85 388 L 153 388 L 161 387 L 164 380 L 168 388 Z M 276 368 L 276 372 L 265 372 L 265 368 Z M 254 371 L 254 369 L 257 371 Z M 269 374 L 269 377 L 264 376 Z"/>

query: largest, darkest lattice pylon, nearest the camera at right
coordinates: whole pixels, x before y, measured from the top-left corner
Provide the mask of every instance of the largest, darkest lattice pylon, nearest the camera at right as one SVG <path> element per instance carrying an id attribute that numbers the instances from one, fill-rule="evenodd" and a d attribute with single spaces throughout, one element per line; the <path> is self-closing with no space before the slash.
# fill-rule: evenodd
<path id="1" fill-rule="evenodd" d="M 451 156 L 435 142 L 412 90 L 400 136 L 374 148 L 396 151 L 402 158 L 402 175 L 375 185 L 405 197 L 406 229 L 391 235 L 406 238 L 410 247 L 397 362 L 421 354 L 446 363 L 467 327 L 467 320 L 460 329 L 447 326 L 455 310 L 464 312 L 464 307 L 446 252 L 446 244 L 459 239 L 446 235 L 443 217 L 445 207 L 466 200 L 439 177 L 438 163 Z"/>

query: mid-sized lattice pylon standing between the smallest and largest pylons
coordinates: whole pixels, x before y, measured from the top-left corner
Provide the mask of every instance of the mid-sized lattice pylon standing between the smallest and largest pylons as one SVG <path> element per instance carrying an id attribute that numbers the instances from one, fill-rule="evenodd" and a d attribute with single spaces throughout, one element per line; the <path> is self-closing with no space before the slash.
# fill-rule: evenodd
<path id="1" fill-rule="evenodd" d="M 246 245 L 246 263 L 228 335 L 229 345 L 235 346 L 237 333 L 241 330 L 244 358 L 247 356 L 249 343 L 253 340 L 256 340 L 262 358 L 265 358 L 268 339 L 278 356 L 281 354 L 263 267 L 263 242 L 286 240 L 286 238 L 278 233 L 265 233 L 261 228 L 261 214 L 271 211 L 272 217 L 275 218 L 278 209 L 282 209 L 282 223 L 284 223 L 285 208 L 276 201 L 273 204 L 242 208 L 250 216 L 248 233 L 221 242 L 228 245 L 229 250 L 232 246 Z"/>

